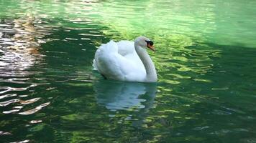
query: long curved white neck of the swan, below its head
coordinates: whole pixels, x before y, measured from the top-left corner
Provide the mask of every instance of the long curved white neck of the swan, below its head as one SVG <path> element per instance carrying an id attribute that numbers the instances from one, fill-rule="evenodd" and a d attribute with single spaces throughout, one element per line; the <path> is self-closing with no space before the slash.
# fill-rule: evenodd
<path id="1" fill-rule="evenodd" d="M 146 82 L 157 82 L 157 72 L 155 71 L 155 65 L 150 58 L 150 55 L 147 54 L 147 50 L 140 47 L 136 43 L 134 46 L 138 56 L 140 57 L 140 60 L 142 60 L 142 63 L 145 66 L 147 73 Z"/>

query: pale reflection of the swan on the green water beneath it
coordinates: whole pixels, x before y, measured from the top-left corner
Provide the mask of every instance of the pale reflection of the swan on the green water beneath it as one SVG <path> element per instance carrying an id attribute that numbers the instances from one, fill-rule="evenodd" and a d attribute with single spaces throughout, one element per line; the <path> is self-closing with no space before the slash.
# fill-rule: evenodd
<path id="1" fill-rule="evenodd" d="M 94 83 L 96 100 L 106 109 L 147 113 L 154 105 L 157 84 L 100 80 Z"/>

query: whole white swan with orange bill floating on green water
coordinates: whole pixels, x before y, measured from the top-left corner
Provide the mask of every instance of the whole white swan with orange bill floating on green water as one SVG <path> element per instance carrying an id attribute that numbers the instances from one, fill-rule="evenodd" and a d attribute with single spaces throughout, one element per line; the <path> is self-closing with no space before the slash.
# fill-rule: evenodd
<path id="1" fill-rule="evenodd" d="M 139 36 L 133 41 L 109 41 L 95 53 L 93 68 L 106 79 L 122 82 L 157 82 L 154 63 L 147 47 L 155 51 L 150 39 Z"/>

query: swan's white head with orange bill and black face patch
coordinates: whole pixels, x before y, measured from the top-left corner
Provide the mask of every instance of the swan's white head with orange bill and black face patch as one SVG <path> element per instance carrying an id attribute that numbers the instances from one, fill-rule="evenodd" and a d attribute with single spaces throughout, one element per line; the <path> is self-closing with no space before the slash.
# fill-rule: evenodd
<path id="1" fill-rule="evenodd" d="M 151 41 L 150 39 L 148 39 L 147 37 L 145 36 L 139 36 L 135 39 L 134 41 L 134 44 L 138 45 L 138 46 L 141 46 L 142 48 L 149 48 L 151 49 L 152 51 L 155 51 L 155 47 L 153 46 L 153 41 Z"/>

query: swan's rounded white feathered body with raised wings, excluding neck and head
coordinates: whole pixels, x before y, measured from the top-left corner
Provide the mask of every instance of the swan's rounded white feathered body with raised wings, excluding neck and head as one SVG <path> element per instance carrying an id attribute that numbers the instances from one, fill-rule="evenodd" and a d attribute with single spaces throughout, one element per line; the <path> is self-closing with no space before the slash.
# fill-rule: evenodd
<path id="1" fill-rule="evenodd" d="M 95 53 L 93 68 L 107 79 L 127 82 L 142 82 L 146 71 L 133 41 L 109 41 L 102 44 Z"/>

